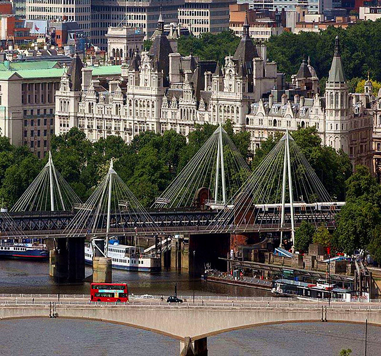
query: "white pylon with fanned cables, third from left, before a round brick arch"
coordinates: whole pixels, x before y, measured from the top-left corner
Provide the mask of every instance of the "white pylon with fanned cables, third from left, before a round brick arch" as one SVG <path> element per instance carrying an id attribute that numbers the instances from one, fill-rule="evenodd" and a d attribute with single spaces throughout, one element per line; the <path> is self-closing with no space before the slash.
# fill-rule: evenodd
<path id="1" fill-rule="evenodd" d="M 249 174 L 247 163 L 220 124 L 152 207 L 220 209 Z"/>

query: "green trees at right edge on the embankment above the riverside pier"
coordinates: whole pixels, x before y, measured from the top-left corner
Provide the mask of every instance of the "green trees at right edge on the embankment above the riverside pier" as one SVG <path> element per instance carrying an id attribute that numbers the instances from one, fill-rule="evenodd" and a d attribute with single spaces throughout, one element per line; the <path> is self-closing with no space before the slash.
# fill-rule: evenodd
<path id="1" fill-rule="evenodd" d="M 303 222 L 295 232 L 295 247 L 308 251 L 310 243 L 330 247 L 331 253 L 348 255 L 363 252 L 381 262 L 381 186 L 369 169 L 357 166 L 345 182 L 346 204 L 337 216 L 336 229 L 330 233 L 324 226 L 315 229 Z"/>

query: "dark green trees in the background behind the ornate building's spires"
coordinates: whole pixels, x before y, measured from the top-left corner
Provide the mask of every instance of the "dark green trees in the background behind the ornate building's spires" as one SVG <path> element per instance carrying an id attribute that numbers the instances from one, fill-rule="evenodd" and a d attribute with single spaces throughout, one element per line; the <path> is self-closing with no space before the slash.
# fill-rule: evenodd
<path id="1" fill-rule="evenodd" d="M 337 35 L 347 79 L 366 78 L 369 71 L 370 78 L 381 81 L 381 20 L 362 21 L 346 29 L 330 26 L 319 33 L 284 32 L 272 36 L 267 42 L 267 55 L 278 64 L 278 72 L 286 73 L 289 78 L 298 72 L 303 55 L 310 56 L 317 76 L 327 78 Z M 183 55 L 192 52 L 202 60 L 223 63 L 226 55 L 234 54 L 238 42 L 239 38 L 232 32 L 205 33 L 200 38 L 180 37 L 178 51 Z"/>

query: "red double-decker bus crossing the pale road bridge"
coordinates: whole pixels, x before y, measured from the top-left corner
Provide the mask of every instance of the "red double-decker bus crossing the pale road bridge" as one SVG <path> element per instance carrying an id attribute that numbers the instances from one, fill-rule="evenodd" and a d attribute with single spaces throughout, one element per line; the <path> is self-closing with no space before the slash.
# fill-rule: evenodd
<path id="1" fill-rule="evenodd" d="M 126 283 L 91 283 L 92 302 L 128 302 L 129 291 Z"/>

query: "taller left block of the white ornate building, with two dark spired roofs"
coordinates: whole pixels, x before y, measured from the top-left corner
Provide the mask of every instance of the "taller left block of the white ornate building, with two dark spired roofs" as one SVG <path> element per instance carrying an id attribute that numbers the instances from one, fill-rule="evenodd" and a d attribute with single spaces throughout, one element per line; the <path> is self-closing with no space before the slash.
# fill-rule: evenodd
<path id="1" fill-rule="evenodd" d="M 146 130 L 187 135 L 196 124 L 228 118 L 235 130 L 244 130 L 250 104 L 276 85 L 276 64 L 267 61 L 266 46 L 253 45 L 247 26 L 221 68 L 174 53 L 161 17 L 157 29 L 148 52 L 136 51 L 130 63 L 123 61 L 119 81 L 91 80 L 91 69 L 76 58 L 56 92 L 56 134 L 76 126 L 91 140 L 120 135 L 131 142 Z"/>

